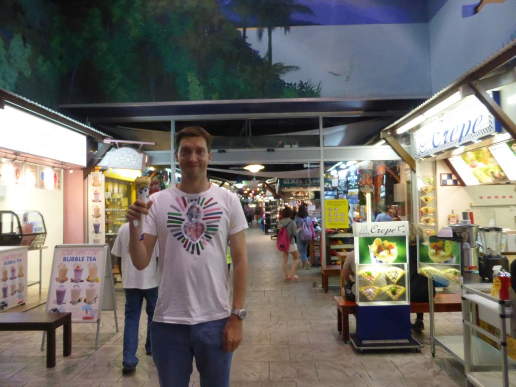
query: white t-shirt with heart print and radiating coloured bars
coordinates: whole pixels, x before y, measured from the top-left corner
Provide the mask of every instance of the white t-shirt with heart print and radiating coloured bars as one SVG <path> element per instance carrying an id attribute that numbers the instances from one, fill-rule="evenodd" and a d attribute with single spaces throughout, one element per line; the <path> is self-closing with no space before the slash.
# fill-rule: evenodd
<path id="1" fill-rule="evenodd" d="M 159 245 L 154 321 L 199 324 L 230 315 L 228 236 L 247 229 L 240 201 L 214 184 L 201 193 L 171 187 L 152 196 L 144 232 Z"/>

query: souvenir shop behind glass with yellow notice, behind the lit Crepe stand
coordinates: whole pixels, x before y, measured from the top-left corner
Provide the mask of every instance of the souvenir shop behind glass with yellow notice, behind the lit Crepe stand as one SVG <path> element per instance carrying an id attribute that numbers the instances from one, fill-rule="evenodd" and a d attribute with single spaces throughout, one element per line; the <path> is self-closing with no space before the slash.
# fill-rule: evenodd
<path id="1" fill-rule="evenodd" d="M 338 265 L 353 250 L 353 223 L 372 222 L 381 212 L 393 220 L 407 220 L 407 192 L 410 172 L 401 160 L 325 163 L 325 264 Z"/>

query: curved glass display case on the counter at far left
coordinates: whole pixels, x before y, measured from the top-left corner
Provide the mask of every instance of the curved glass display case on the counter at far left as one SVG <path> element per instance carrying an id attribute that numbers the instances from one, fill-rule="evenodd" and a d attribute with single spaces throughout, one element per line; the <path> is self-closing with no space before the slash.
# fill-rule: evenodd
<path id="1" fill-rule="evenodd" d="M 39 212 L 0 211 L 0 246 L 36 248 L 45 238 L 45 221 Z"/>

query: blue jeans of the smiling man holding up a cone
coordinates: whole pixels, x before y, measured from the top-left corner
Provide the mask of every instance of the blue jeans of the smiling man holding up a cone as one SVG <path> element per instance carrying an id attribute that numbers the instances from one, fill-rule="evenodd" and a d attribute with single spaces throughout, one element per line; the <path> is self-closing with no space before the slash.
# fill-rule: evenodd
<path id="1" fill-rule="evenodd" d="M 232 352 L 222 338 L 228 318 L 195 325 L 151 324 L 152 358 L 162 387 L 188 387 L 195 357 L 202 387 L 229 387 Z"/>

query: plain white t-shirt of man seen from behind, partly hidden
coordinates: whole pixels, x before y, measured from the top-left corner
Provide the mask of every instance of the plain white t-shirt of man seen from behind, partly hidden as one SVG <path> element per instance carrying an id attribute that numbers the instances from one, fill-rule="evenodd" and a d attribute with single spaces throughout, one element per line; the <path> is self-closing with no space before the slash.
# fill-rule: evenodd
<path id="1" fill-rule="evenodd" d="M 158 286 L 158 266 L 156 256 L 158 249 L 154 248 L 149 266 L 138 270 L 133 266 L 129 255 L 129 223 L 122 224 L 118 230 L 117 239 L 111 253 L 122 257 L 122 286 L 126 289 L 150 289 Z"/>

